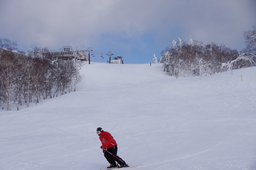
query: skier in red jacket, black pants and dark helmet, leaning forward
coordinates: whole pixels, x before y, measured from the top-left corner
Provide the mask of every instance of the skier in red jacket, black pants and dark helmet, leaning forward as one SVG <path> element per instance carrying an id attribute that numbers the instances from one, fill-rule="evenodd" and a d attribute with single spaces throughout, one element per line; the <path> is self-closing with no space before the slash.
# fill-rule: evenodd
<path id="1" fill-rule="evenodd" d="M 110 163 L 110 166 L 107 168 L 117 167 L 116 162 L 120 165 L 118 168 L 129 167 L 122 158 L 117 156 L 117 143 L 113 136 L 110 133 L 103 131 L 101 127 L 97 128 L 96 133 L 100 136 L 100 141 L 102 143 L 100 148 L 103 149 L 104 156 Z"/>

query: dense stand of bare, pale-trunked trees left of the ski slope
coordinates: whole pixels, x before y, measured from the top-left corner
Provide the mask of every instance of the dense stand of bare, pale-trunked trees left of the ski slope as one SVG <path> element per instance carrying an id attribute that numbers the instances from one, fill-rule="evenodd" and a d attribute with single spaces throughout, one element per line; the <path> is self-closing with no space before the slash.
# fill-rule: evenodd
<path id="1" fill-rule="evenodd" d="M 45 48 L 31 47 L 25 53 L 8 49 L 7 40 L 0 39 L 0 106 L 11 110 L 11 104 L 39 102 L 40 96 L 58 96 L 80 82 L 79 70 L 84 62 L 76 56 L 64 60 L 61 53 L 51 53 Z M 3 42 L 5 43 L 3 45 Z M 6 45 L 7 42 L 7 45 Z M 12 46 L 11 46 L 12 47 Z M 75 88 L 74 88 L 75 91 Z"/>

